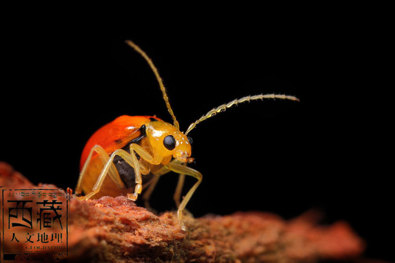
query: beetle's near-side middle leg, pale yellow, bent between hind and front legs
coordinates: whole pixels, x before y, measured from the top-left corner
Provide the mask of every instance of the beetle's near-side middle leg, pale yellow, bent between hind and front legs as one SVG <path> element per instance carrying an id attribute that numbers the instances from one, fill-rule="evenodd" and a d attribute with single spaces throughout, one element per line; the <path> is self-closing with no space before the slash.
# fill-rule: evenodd
<path id="1" fill-rule="evenodd" d="M 106 165 L 104 166 L 104 168 L 103 168 L 102 172 L 100 173 L 100 175 L 99 175 L 99 177 L 98 177 L 98 179 L 97 179 L 97 181 L 96 181 L 94 187 L 92 188 L 92 192 L 86 194 L 86 195 L 83 197 L 84 200 L 89 199 L 89 198 L 92 197 L 94 194 L 96 194 L 96 193 L 98 193 L 98 192 L 100 191 L 100 188 L 101 188 L 101 186 L 102 186 L 102 184 L 103 184 L 103 182 L 104 182 L 104 179 L 106 178 L 107 172 L 109 171 L 111 165 L 113 164 L 113 160 L 114 160 L 114 157 L 115 157 L 116 155 L 120 156 L 120 157 L 121 157 L 122 159 L 124 159 L 130 166 L 132 166 L 133 169 L 134 169 L 135 171 L 139 171 L 139 173 L 140 173 L 140 165 L 139 165 L 139 163 L 137 163 L 137 158 L 136 158 L 136 156 L 134 156 L 134 158 L 136 159 L 136 162 L 134 162 L 134 161 L 133 161 L 133 157 L 132 157 L 133 155 L 132 155 L 132 154 L 128 153 L 128 152 L 125 151 L 125 150 L 117 149 L 117 150 L 115 150 L 115 151 L 111 154 L 109 160 L 107 161 Z M 137 165 L 136 165 L 136 163 L 137 163 Z M 136 168 L 137 168 L 137 169 L 136 169 Z M 136 177 L 137 177 L 137 175 L 136 175 Z M 141 179 L 141 174 L 140 174 L 140 179 Z M 136 188 L 137 188 L 137 186 L 136 186 Z M 138 191 L 138 189 L 137 189 L 137 191 Z M 140 192 L 141 192 L 141 184 L 140 184 Z"/>

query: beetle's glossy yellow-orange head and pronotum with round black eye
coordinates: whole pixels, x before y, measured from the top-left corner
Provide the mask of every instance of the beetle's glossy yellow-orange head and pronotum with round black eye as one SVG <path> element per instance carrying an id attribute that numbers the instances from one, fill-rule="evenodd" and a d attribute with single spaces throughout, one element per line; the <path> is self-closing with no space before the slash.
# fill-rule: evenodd
<path id="1" fill-rule="evenodd" d="M 154 155 L 165 158 L 173 156 L 181 162 L 192 162 L 191 142 L 183 132 L 164 121 L 151 121 L 147 124 L 147 138 L 151 144 Z"/>

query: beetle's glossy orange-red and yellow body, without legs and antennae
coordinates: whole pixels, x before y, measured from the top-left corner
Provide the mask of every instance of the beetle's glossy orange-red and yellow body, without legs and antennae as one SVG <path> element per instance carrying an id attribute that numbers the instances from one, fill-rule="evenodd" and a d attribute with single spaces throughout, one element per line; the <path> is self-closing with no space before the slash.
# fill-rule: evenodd
<path id="1" fill-rule="evenodd" d="M 142 128 L 145 131 L 142 131 Z M 145 136 L 142 136 L 142 134 L 145 134 Z M 174 150 L 168 150 L 163 146 L 163 139 L 169 135 L 173 136 L 176 141 Z M 136 141 L 136 138 L 140 139 Z M 187 162 L 191 156 L 191 145 L 188 138 L 182 132 L 177 131 L 174 125 L 154 116 L 122 115 L 101 127 L 91 136 L 82 151 L 80 169 L 82 170 L 89 151 L 95 145 L 101 146 L 110 155 L 117 149 L 127 147 L 133 141 L 136 141 L 136 144 L 153 156 L 152 163 L 144 158 L 138 160 L 141 167 L 144 167 L 141 170 L 143 184 L 152 179 L 152 175 L 163 168 L 163 165 L 167 165 L 173 157 L 180 162 Z M 81 181 L 81 188 L 84 193 L 92 191 L 104 165 L 105 161 L 101 159 L 100 154 L 92 155 L 86 167 L 85 176 Z M 115 169 L 115 172 L 118 173 L 117 169 Z M 134 169 L 129 171 L 128 176 L 134 179 Z M 105 195 L 127 195 L 133 190 L 134 186 L 127 187 L 127 184 L 124 188 L 119 188 L 110 177 L 106 177 L 100 191 L 92 195 L 92 198 L 100 198 Z"/>

